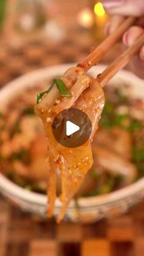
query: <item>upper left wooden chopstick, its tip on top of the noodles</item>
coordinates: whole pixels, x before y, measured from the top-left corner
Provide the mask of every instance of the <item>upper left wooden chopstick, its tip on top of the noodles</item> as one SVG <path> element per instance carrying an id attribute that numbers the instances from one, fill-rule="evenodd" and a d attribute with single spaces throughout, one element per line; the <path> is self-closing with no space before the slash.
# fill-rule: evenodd
<path id="1" fill-rule="evenodd" d="M 124 32 L 135 23 L 137 18 L 129 17 L 123 21 L 123 23 L 118 27 L 117 31 L 109 35 L 96 49 L 90 53 L 84 62 L 77 65 L 77 67 L 83 67 L 85 71 L 90 69 L 93 65 L 96 65 L 98 61 L 104 56 L 107 51 L 112 48 L 113 45 L 122 37 Z"/>

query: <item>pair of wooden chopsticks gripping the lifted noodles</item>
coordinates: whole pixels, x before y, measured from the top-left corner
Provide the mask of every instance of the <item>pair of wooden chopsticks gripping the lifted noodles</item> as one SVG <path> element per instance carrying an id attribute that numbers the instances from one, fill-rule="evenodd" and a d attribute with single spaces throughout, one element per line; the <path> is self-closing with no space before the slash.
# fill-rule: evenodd
<path id="1" fill-rule="evenodd" d="M 90 53 L 87 58 L 78 67 L 83 67 L 85 71 L 88 71 L 93 65 L 96 65 L 98 61 L 104 56 L 115 43 L 120 40 L 124 32 L 128 30 L 137 19 L 133 17 L 126 18 L 124 22 L 118 27 L 117 31 L 109 35 L 97 48 Z M 107 82 L 134 57 L 139 49 L 144 45 L 144 33 L 130 46 L 124 53 L 122 53 L 116 60 L 114 60 L 104 71 L 101 73 L 97 80 L 101 87 L 105 86 Z"/>

